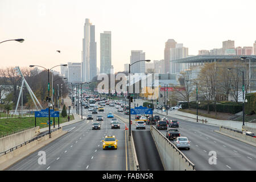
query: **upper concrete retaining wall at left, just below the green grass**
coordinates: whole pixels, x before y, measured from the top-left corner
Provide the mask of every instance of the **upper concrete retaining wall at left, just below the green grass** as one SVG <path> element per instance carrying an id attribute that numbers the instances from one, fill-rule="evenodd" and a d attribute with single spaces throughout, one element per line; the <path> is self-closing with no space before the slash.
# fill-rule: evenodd
<path id="1" fill-rule="evenodd" d="M 0 138 L 0 152 L 6 151 L 11 147 L 17 146 L 18 144 L 35 137 L 39 134 L 39 132 L 39 126 L 37 126 L 32 129 L 28 129 L 19 133 L 15 133 L 13 135 L 9 135 L 7 137 Z"/>

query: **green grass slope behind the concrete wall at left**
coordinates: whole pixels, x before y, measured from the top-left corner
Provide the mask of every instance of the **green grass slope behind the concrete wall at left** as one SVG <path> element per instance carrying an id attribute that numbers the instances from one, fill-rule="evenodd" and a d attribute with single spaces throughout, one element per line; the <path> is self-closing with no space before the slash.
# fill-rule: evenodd
<path id="1" fill-rule="evenodd" d="M 70 115 L 70 120 L 73 120 L 73 115 Z M 46 124 L 48 118 L 36 118 L 36 126 L 40 126 L 40 129 L 48 127 Z M 51 118 L 53 124 L 53 118 Z M 68 121 L 68 117 L 60 117 L 60 123 Z M 55 126 L 58 125 L 58 118 L 55 118 Z M 13 133 L 18 130 L 35 127 L 35 117 L 24 117 L 24 118 L 4 118 L 0 119 L 0 135 Z"/>

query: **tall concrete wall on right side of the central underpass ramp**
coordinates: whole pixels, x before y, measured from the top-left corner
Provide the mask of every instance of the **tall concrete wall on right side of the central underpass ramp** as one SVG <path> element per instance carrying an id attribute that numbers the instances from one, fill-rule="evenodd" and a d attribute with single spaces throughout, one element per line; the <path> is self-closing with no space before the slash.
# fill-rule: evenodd
<path id="1" fill-rule="evenodd" d="M 195 171 L 192 162 L 190 162 L 182 152 L 177 149 L 163 134 L 151 126 L 151 134 L 158 147 L 159 155 L 168 171 Z"/>

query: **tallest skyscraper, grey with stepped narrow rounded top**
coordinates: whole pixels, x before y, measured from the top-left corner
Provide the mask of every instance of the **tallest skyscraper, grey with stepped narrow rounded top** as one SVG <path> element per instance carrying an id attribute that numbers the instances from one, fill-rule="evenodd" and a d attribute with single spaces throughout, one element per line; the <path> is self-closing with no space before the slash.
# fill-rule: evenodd
<path id="1" fill-rule="evenodd" d="M 90 19 L 85 19 L 84 39 L 82 39 L 82 79 L 90 81 L 97 73 L 97 46 L 95 42 L 95 26 Z"/>

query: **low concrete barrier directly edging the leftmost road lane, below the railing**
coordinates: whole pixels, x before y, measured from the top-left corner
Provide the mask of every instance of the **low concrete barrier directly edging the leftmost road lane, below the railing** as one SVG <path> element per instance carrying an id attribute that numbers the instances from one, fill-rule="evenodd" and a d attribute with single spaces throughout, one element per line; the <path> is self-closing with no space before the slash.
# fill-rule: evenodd
<path id="1" fill-rule="evenodd" d="M 57 134 L 62 132 L 62 128 L 59 130 L 56 130 L 54 132 L 51 133 L 51 138 L 54 138 Z M 35 147 L 36 145 L 46 141 L 49 139 L 49 135 L 45 135 L 44 137 L 41 137 L 37 140 L 34 140 L 30 143 L 27 143 L 26 145 L 17 148 L 14 151 L 11 151 L 5 155 L 0 156 L 0 170 L 5 169 L 6 166 L 10 166 L 11 164 L 7 164 L 5 162 L 9 162 L 8 160 L 13 159 L 19 155 L 22 155 L 24 153 L 26 153 L 26 155 L 29 155 L 29 153 L 27 151 L 29 151 L 32 147 Z M 31 152 L 31 151 L 30 151 Z M 24 155 L 24 156 L 26 156 Z M 17 159 L 18 160 L 18 159 Z M 15 161 L 16 162 L 16 161 Z"/>

